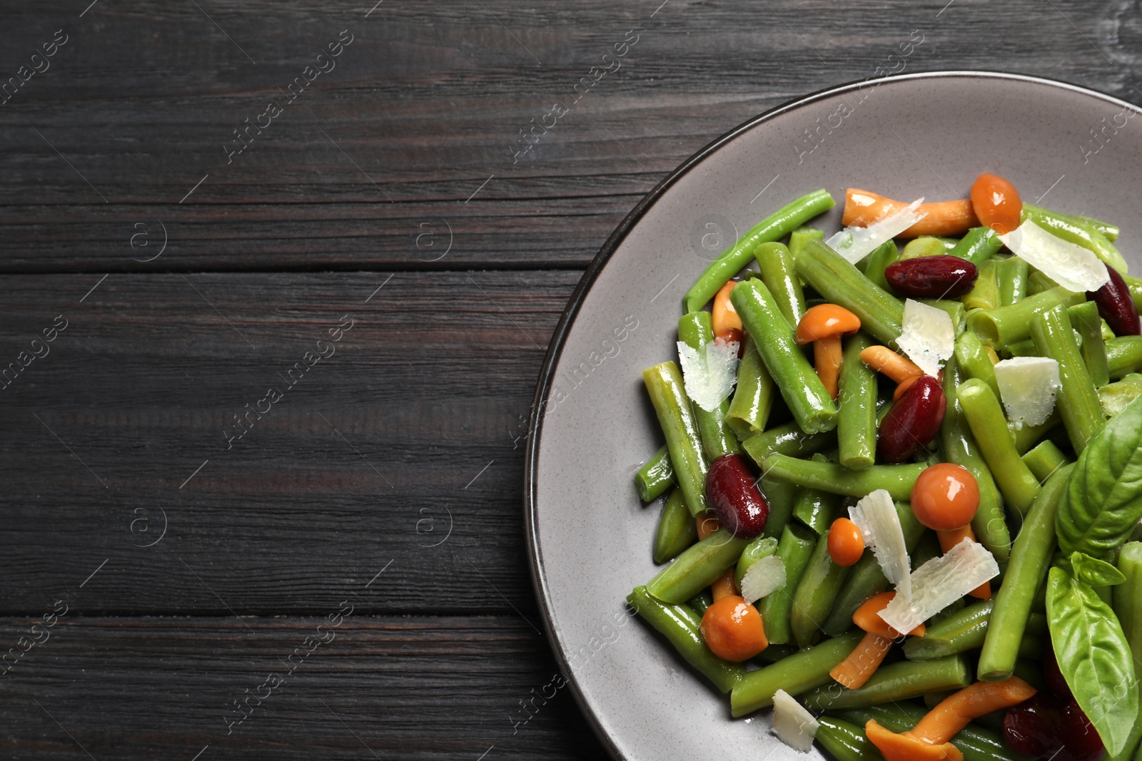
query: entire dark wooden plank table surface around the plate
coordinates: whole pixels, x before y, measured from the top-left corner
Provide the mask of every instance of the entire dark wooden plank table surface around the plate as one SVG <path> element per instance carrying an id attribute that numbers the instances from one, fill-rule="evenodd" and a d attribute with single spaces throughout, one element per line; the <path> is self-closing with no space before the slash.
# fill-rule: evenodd
<path id="1" fill-rule="evenodd" d="M 89 2 L 0 14 L 5 759 L 601 756 L 521 492 L 610 230 L 850 80 L 1142 98 L 1132 3 Z"/>

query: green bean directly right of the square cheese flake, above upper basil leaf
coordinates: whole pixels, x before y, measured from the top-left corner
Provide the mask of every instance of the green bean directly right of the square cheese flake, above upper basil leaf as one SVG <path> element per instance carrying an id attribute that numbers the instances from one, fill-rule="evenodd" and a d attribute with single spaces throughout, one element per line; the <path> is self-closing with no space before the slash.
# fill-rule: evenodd
<path id="1" fill-rule="evenodd" d="M 1102 414 L 1099 392 L 1091 382 L 1091 374 L 1083 363 L 1083 355 L 1071 331 L 1065 309 L 1051 309 L 1031 319 L 1031 338 L 1039 354 L 1059 363 L 1059 412 L 1067 427 L 1067 435 L 1076 454 L 1081 454 L 1086 443 L 1102 430 L 1107 422 Z"/>

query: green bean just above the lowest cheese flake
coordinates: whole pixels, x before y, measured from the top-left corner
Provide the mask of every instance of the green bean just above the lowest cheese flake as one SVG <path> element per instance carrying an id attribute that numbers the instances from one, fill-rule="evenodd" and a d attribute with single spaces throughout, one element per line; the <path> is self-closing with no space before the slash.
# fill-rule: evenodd
<path id="1" fill-rule="evenodd" d="M 730 694 L 730 712 L 734 718 L 773 705 L 773 695 L 783 689 L 789 695 L 801 695 L 833 681 L 829 672 L 844 661 L 863 632 L 835 637 L 819 645 L 790 655 L 788 658 L 746 673 Z"/>

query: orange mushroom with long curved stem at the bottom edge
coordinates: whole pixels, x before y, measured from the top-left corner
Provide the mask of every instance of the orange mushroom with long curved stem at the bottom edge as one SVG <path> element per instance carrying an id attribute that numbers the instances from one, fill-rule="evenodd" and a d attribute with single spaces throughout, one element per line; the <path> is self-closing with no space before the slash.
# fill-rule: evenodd
<path id="1" fill-rule="evenodd" d="M 1000 682 L 975 682 L 944 698 L 911 729 L 896 734 L 869 719 L 864 734 L 885 761 L 963 761 L 950 743 L 972 719 L 1002 711 L 1035 696 L 1035 688 L 1019 677 Z"/>

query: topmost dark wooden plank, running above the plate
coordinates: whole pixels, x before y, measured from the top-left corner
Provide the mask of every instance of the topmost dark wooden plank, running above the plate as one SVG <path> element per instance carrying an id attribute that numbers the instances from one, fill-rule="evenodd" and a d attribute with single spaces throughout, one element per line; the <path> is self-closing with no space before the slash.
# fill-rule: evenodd
<path id="1" fill-rule="evenodd" d="M 1031 71 L 1136 97 L 1127 70 L 1108 66 L 1129 59 L 1127 41 L 1094 32 L 1117 22 L 1076 0 L 1057 11 L 893 0 L 852 14 L 821 0 L 588 0 L 557 13 L 440 0 L 368 17 L 369 2 L 199 5 L 6 15 L 21 43 L 0 51 L 2 71 L 56 29 L 70 38 L 0 113 L 0 270 L 136 272 L 163 238 L 144 272 L 576 268 L 713 138 L 878 67 Z M 242 145 L 234 130 L 343 30 L 353 42 L 336 67 L 227 157 L 225 145 Z M 619 67 L 576 100 L 628 30 L 637 42 L 608 64 Z M 914 31 L 924 42 L 890 58 Z M 516 157 L 520 130 L 556 99 L 568 113 Z"/>

